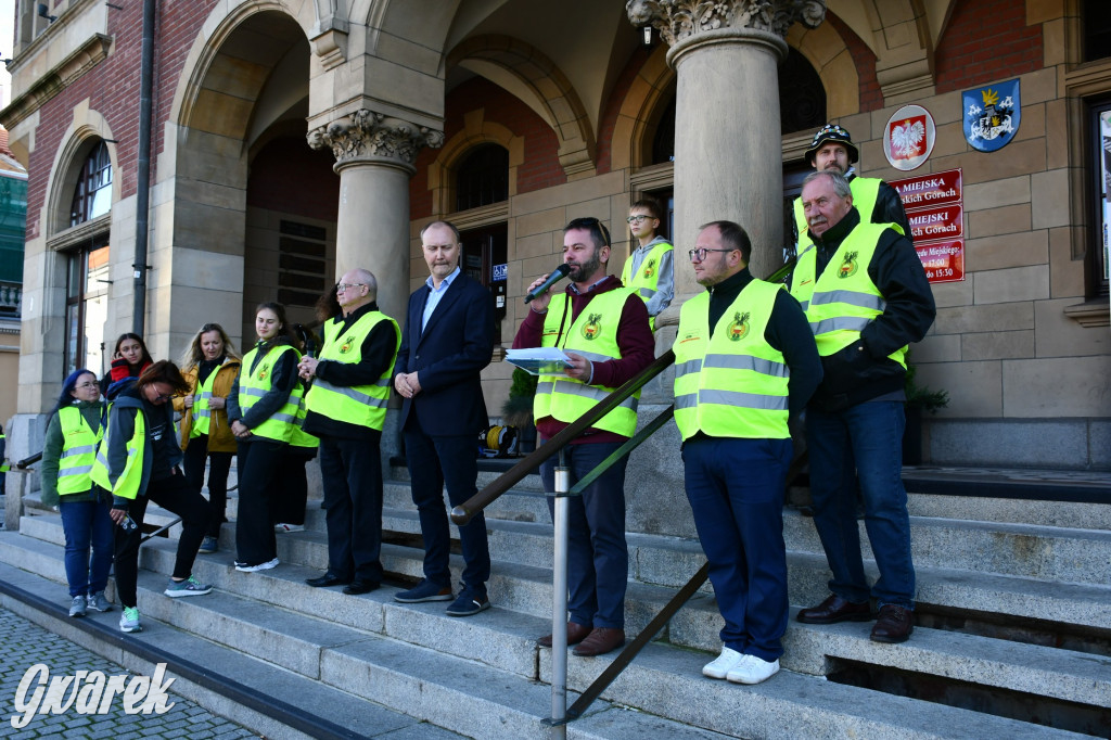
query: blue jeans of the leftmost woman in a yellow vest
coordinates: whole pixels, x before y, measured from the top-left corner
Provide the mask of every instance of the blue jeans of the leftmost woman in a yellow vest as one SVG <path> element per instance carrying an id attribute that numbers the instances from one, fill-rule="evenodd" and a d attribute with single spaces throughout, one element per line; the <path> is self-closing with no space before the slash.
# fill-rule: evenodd
<path id="1" fill-rule="evenodd" d="M 62 513 L 66 532 L 66 580 L 70 596 L 98 593 L 108 586 L 112 568 L 114 524 L 104 501 L 66 501 L 62 496 L 58 510 Z M 92 547 L 92 559 L 89 548 Z"/>

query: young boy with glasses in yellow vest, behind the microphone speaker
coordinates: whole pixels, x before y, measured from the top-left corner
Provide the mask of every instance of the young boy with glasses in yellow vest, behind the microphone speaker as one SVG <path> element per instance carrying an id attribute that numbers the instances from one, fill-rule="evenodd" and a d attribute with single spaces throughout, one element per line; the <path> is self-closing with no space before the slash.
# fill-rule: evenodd
<path id="1" fill-rule="evenodd" d="M 657 236 L 662 209 L 653 198 L 638 200 L 629 209 L 629 231 L 637 239 L 621 270 L 621 282 L 632 288 L 648 306 L 648 316 L 655 330 L 655 317 L 671 304 L 675 294 L 671 243 Z"/>

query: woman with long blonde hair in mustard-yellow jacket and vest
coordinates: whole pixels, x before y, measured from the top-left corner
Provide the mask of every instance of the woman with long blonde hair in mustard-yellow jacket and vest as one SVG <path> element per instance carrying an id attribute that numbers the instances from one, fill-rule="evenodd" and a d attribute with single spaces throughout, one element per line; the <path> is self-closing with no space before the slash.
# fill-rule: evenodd
<path id="1" fill-rule="evenodd" d="M 181 414 L 186 480 L 198 491 L 204 486 L 206 460 L 209 466 L 212 523 L 201 542 L 201 553 L 219 549 L 220 524 L 227 521 L 228 471 L 236 453 L 227 404 L 239 366 L 236 348 L 219 323 L 201 327 L 181 357 L 181 374 L 189 382 L 189 393 L 173 399 L 173 410 Z"/>

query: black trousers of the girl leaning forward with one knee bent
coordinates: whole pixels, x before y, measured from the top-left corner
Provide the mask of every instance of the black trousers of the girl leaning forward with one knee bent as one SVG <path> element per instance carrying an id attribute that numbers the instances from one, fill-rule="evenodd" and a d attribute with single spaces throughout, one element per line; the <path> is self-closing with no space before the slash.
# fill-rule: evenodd
<path id="1" fill-rule="evenodd" d="M 173 578 L 189 578 L 193 572 L 197 550 L 204 539 L 204 531 L 212 518 L 212 508 L 196 488 L 189 484 L 181 471 L 147 484 L 140 494 L 128 504 L 128 516 L 139 527 L 130 532 L 116 528 L 116 591 L 124 607 L 136 606 L 136 580 L 139 577 L 139 542 L 142 540 L 142 522 L 147 516 L 147 502 L 153 501 L 167 511 L 181 517 L 181 539 L 178 540 L 178 558 L 173 562 Z"/>

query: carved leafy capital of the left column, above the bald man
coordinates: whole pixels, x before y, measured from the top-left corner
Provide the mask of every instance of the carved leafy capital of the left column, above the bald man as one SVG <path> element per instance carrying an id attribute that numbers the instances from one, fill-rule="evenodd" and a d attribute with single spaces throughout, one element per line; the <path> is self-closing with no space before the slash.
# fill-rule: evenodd
<path id="1" fill-rule="evenodd" d="M 443 131 L 360 108 L 307 134 L 313 149 L 331 148 L 337 168 L 354 162 L 393 164 L 416 172 L 413 162 L 422 147 L 443 144 Z"/>

